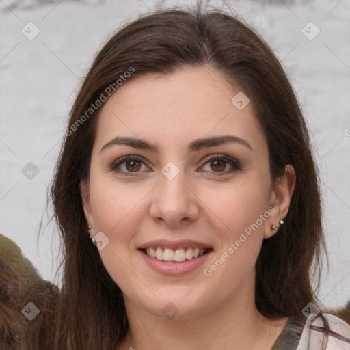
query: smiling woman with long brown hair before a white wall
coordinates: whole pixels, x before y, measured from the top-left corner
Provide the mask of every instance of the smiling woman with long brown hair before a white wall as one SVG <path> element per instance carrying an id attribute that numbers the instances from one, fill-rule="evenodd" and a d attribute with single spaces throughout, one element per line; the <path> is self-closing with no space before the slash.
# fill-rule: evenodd
<path id="1" fill-rule="evenodd" d="M 301 109 L 238 18 L 159 10 L 125 25 L 65 136 L 46 349 L 350 349 L 312 288 L 324 237 Z"/>

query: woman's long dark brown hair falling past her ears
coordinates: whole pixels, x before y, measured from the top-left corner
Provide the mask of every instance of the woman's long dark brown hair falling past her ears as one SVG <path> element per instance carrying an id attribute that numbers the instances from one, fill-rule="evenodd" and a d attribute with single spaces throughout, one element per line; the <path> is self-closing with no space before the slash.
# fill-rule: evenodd
<path id="1" fill-rule="evenodd" d="M 71 350 L 115 349 L 129 327 L 122 292 L 89 239 L 79 191 L 89 176 L 100 113 L 89 110 L 91 104 L 130 68 L 129 79 L 135 79 L 202 65 L 250 96 L 267 139 L 273 180 L 286 165 L 295 168 L 297 182 L 284 225 L 264 240 L 256 262 L 256 307 L 273 319 L 299 317 L 310 301 L 319 304 L 315 291 L 325 248 L 319 179 L 306 122 L 284 69 L 266 42 L 237 16 L 200 8 L 161 9 L 124 25 L 108 40 L 70 112 L 51 188 L 64 252 L 55 350 L 66 349 L 67 342 Z"/>

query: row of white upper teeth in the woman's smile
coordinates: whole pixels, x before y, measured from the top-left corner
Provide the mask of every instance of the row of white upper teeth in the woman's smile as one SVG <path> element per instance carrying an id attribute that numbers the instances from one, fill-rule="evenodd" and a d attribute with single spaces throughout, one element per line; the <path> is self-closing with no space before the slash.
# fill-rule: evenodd
<path id="1" fill-rule="evenodd" d="M 179 248 L 177 250 L 173 250 L 170 248 L 163 249 L 161 247 L 152 247 L 146 249 L 147 255 L 151 258 L 176 262 L 198 258 L 198 256 L 202 256 L 207 251 L 207 249 L 203 248 Z"/>

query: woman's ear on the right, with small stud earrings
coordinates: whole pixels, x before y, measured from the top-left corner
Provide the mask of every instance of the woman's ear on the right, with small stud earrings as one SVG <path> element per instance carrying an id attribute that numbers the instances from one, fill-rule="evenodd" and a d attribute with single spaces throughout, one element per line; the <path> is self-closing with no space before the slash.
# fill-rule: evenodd
<path id="1" fill-rule="evenodd" d="M 271 213 L 265 225 L 264 238 L 272 237 L 278 230 L 271 230 L 271 225 L 280 226 L 280 219 L 284 219 L 288 214 L 289 205 L 295 189 L 295 170 L 290 164 L 286 165 L 284 174 L 275 180 L 270 195 L 270 207 L 275 211 Z"/>

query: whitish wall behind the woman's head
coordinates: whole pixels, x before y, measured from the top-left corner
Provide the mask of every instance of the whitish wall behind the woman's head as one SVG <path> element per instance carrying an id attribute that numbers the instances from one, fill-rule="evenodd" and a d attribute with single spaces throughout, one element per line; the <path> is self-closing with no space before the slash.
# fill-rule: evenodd
<path id="1" fill-rule="evenodd" d="M 195 1 L 176 1 L 191 4 Z M 172 1 L 0 1 L 0 233 L 13 239 L 46 280 L 57 269 L 57 238 L 46 191 L 68 111 L 92 59 L 113 31 Z M 221 1 L 213 5 L 223 6 Z M 350 2 L 226 1 L 269 42 L 288 72 L 310 128 L 321 170 L 329 274 L 321 299 L 350 299 Z M 27 23 L 40 33 L 28 40 Z M 302 28 L 321 30 L 309 40 Z M 310 29 L 309 29 L 310 28 Z M 308 36 L 317 33 L 308 25 Z M 23 167 L 32 162 L 30 180 Z M 35 175 L 35 173 L 33 174 Z M 57 281 L 56 281 L 57 282 Z"/>

